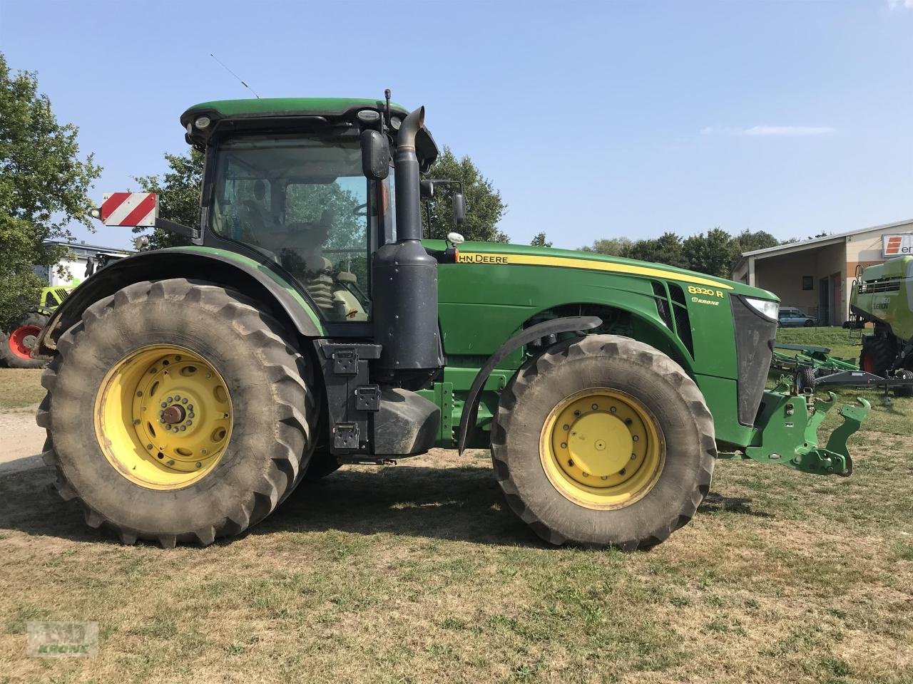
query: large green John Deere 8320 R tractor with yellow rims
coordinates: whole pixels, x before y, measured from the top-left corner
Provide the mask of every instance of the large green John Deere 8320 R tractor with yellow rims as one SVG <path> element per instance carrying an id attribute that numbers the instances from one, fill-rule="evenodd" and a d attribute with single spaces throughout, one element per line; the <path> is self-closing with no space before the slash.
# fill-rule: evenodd
<path id="1" fill-rule="evenodd" d="M 424 108 L 227 100 L 181 123 L 205 153 L 199 222 L 154 224 L 192 246 L 110 264 L 39 339 L 44 457 L 89 525 L 211 544 L 342 464 L 490 448 L 540 537 L 636 549 L 691 519 L 718 457 L 852 471 L 865 402 L 819 446 L 833 395 L 765 390 L 770 292 L 423 240 Z"/>

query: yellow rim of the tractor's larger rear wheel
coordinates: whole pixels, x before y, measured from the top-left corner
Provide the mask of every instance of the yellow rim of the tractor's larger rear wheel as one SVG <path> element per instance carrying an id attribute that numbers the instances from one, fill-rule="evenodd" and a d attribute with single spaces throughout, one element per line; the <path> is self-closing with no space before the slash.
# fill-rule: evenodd
<path id="1" fill-rule="evenodd" d="M 101 451 L 147 489 L 181 489 L 212 472 L 232 424 L 225 380 L 184 347 L 152 345 L 121 358 L 95 398 Z"/>

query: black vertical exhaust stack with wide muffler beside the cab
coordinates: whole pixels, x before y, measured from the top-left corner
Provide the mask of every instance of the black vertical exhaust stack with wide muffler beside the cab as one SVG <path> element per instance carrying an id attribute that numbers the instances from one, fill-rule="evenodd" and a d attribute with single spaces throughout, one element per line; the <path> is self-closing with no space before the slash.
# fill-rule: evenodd
<path id="1" fill-rule="evenodd" d="M 406 389 L 424 386 L 444 366 L 437 326 L 437 261 L 422 246 L 415 136 L 425 125 L 420 107 L 400 125 L 394 155 L 396 242 L 373 258 L 374 339 L 383 348 L 378 379 Z"/>

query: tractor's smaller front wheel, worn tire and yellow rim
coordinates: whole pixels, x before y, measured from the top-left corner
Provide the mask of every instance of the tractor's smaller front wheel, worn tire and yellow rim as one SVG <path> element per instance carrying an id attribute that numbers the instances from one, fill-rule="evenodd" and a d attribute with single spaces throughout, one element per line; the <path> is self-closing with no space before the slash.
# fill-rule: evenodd
<path id="1" fill-rule="evenodd" d="M 600 451 L 564 443 L 562 434 L 576 430 L 592 430 L 587 439 Z M 580 451 L 556 451 L 557 441 Z M 510 508 L 540 537 L 634 550 L 662 542 L 691 519 L 709 491 L 717 450 L 703 396 L 677 363 L 627 337 L 592 335 L 553 345 L 519 369 L 501 393 L 491 453 Z M 651 453 L 658 458 L 650 461 Z M 655 472 L 636 484 L 651 462 Z"/>

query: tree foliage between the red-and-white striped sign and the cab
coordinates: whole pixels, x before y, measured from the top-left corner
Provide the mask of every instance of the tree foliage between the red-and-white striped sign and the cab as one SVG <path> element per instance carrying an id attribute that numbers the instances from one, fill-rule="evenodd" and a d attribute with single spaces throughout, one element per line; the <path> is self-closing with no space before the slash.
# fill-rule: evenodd
<path id="1" fill-rule="evenodd" d="M 194 227 L 200 224 L 200 192 L 203 185 L 203 152 L 191 149 L 188 154 L 165 154 L 170 171 L 157 176 L 135 176 L 142 192 L 155 192 L 159 196 L 159 216 L 174 223 Z M 133 233 L 144 233 L 148 228 L 137 226 Z M 187 238 L 161 228 L 149 234 L 147 249 L 163 249 L 190 244 Z"/>

